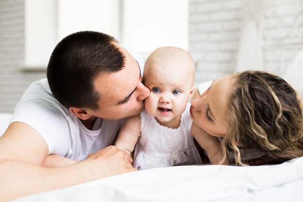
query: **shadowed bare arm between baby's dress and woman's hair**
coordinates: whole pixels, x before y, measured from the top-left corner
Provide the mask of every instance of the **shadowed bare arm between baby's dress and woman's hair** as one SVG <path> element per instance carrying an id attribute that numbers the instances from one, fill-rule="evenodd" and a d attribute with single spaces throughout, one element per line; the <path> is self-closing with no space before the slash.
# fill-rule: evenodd
<path id="1" fill-rule="evenodd" d="M 211 163 L 220 164 L 223 159 L 223 152 L 218 138 L 208 134 L 195 123 L 192 124 L 191 133 L 199 145 L 207 152 Z M 227 161 L 225 160 L 221 164 L 227 165 Z"/>

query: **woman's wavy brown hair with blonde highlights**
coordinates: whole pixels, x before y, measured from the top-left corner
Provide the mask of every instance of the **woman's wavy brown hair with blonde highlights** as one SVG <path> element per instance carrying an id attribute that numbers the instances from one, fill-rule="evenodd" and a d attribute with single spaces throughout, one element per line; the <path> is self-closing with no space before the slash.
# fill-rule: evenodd
<path id="1" fill-rule="evenodd" d="M 230 128 L 221 143 L 234 154 L 235 164 L 247 165 L 242 148 L 265 153 L 268 162 L 303 156 L 303 104 L 297 92 L 268 72 L 244 71 L 233 77 L 227 109 Z M 226 150 L 223 153 L 226 159 Z"/>

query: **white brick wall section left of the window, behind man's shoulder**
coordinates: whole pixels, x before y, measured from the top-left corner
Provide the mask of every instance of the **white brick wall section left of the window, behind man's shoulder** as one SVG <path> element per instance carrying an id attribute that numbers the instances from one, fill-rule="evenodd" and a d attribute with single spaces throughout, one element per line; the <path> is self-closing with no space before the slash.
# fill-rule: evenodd
<path id="1" fill-rule="evenodd" d="M 13 112 L 30 85 L 45 72 L 25 72 L 24 0 L 0 0 L 0 112 Z"/>

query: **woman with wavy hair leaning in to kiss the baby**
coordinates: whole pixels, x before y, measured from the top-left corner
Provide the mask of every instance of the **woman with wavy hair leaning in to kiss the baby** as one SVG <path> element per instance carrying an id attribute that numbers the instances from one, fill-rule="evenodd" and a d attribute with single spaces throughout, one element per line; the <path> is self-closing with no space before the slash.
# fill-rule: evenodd
<path id="1" fill-rule="evenodd" d="M 284 79 L 244 71 L 216 79 L 200 93 L 193 95 L 191 114 L 209 141 L 199 143 L 205 149 L 215 141 L 207 136 L 219 137 L 221 164 L 276 164 L 303 156 L 303 104 Z"/>

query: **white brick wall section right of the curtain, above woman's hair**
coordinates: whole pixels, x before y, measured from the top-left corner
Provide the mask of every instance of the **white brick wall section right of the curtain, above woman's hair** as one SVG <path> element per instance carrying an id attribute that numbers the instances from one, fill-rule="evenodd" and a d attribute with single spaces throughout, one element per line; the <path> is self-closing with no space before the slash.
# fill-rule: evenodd
<path id="1" fill-rule="evenodd" d="M 283 74 L 302 48 L 303 0 L 275 1 L 264 16 L 264 68 Z"/>

